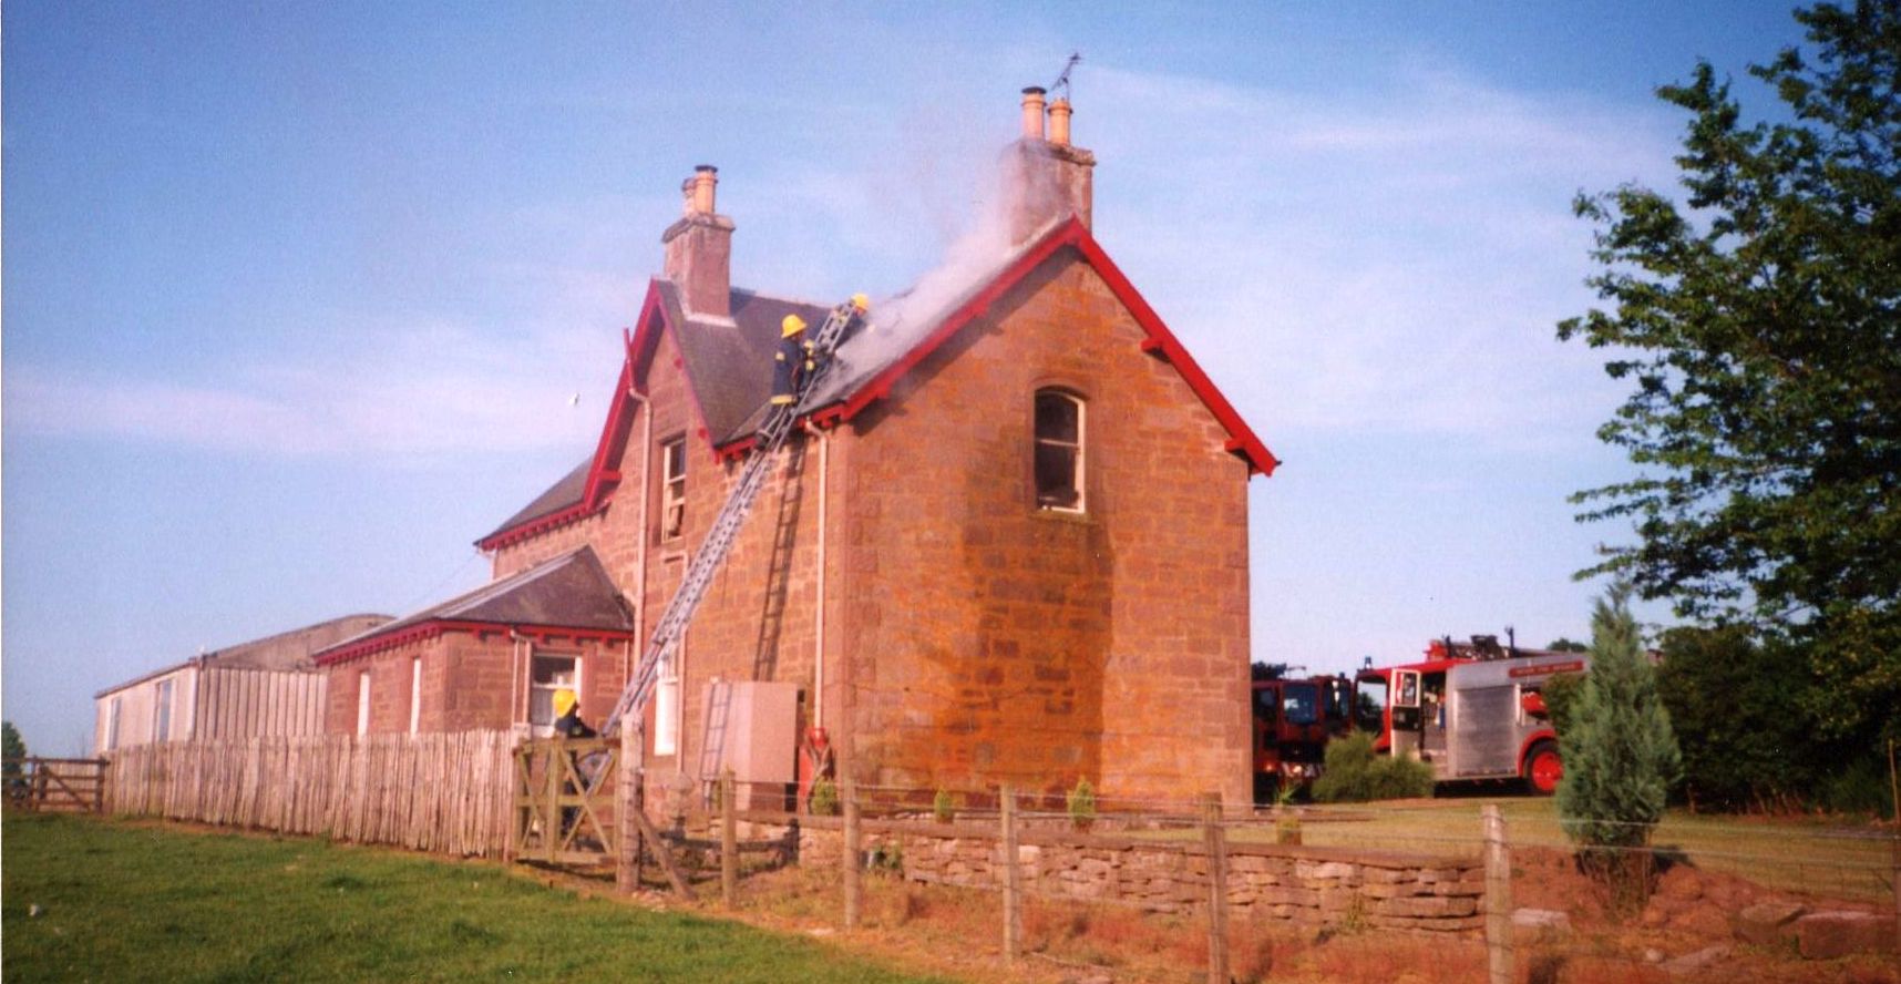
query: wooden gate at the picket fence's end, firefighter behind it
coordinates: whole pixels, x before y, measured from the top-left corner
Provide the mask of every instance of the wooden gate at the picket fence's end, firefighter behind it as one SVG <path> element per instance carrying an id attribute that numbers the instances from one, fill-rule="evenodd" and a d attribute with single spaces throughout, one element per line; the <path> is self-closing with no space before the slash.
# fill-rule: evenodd
<path id="1" fill-rule="evenodd" d="M 618 773 L 618 738 L 542 738 L 515 748 L 515 858 L 614 864 Z"/>

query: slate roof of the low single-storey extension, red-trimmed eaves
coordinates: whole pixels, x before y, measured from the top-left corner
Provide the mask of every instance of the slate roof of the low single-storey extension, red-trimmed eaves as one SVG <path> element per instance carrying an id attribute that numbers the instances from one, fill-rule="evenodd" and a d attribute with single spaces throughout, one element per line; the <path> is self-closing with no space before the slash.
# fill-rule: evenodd
<path id="1" fill-rule="evenodd" d="M 394 622 L 352 636 L 317 653 L 317 662 L 336 662 L 394 643 L 411 630 L 441 622 L 481 622 L 508 628 L 578 628 L 631 634 L 633 617 L 591 546 L 578 546 L 527 571 L 504 577 L 430 605 Z"/>

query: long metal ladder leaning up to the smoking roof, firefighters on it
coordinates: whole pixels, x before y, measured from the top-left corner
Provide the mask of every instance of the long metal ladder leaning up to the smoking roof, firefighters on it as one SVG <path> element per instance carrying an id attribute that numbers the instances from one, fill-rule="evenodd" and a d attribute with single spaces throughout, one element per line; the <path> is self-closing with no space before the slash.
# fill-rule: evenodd
<path id="1" fill-rule="evenodd" d="M 654 695 L 654 683 L 660 679 L 660 664 L 681 645 L 686 626 L 694 620 L 694 609 L 700 607 L 707 586 L 713 584 L 713 575 L 726 563 L 726 554 L 732 550 L 739 527 L 745 525 L 747 514 L 753 512 L 753 502 L 758 499 L 760 489 L 766 487 L 774 457 L 779 453 L 779 447 L 785 447 L 785 438 L 791 436 L 793 423 L 798 421 L 800 403 L 806 394 L 814 392 L 825 381 L 833 367 L 833 350 L 838 348 L 846 329 L 859 318 L 861 312 L 852 301 L 833 308 L 825 324 L 819 325 L 817 337 L 812 339 L 814 369 L 798 379 L 793 402 L 772 403 L 766 411 L 766 423 L 758 428 L 753 455 L 747 459 L 745 470 L 739 472 L 739 483 L 726 497 L 726 504 L 720 506 L 719 516 L 713 520 L 713 529 L 707 531 L 707 539 L 694 550 L 694 560 L 686 565 L 686 577 L 681 581 L 679 590 L 673 592 L 673 600 L 660 613 L 654 638 L 648 640 L 633 679 L 627 681 L 627 689 L 620 693 L 614 712 L 601 725 L 603 735 L 612 735 L 627 714 L 646 708 L 646 700 Z M 643 529 L 641 535 L 644 537 L 646 531 Z"/>

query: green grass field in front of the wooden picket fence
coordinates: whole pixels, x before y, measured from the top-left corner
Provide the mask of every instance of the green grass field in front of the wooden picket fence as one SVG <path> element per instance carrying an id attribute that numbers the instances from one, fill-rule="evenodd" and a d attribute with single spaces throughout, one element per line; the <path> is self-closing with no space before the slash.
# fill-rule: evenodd
<path id="1" fill-rule="evenodd" d="M 498 864 L 8 815 L 6 980 L 926 980 Z M 40 906 L 29 917 L 29 906 Z"/>

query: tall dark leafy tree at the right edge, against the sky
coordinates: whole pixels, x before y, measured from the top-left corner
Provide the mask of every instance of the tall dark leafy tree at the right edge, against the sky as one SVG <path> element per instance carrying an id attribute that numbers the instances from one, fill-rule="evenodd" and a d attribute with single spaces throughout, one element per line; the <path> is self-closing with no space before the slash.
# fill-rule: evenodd
<path id="1" fill-rule="evenodd" d="M 1699 63 L 1686 207 L 1622 187 L 1599 225 L 1604 308 L 1559 339 L 1610 348 L 1635 390 L 1599 428 L 1637 478 L 1578 493 L 1635 522 L 1612 573 L 1680 617 L 1804 653 L 1829 738 L 1901 738 L 1901 4 L 1796 11 L 1808 48 L 1749 74 L 1783 120 L 1745 124 Z"/>

